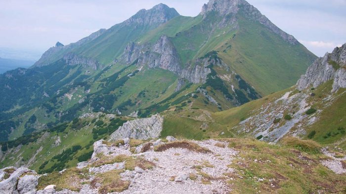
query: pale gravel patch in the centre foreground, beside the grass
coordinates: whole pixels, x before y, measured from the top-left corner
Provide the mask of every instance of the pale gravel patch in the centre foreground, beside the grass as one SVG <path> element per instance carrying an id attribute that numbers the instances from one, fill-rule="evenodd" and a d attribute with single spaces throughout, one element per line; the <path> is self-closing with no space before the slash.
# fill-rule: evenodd
<path id="1" fill-rule="evenodd" d="M 148 151 L 141 154 L 147 160 L 155 163 L 155 167 L 145 171 L 143 174 L 133 174 L 126 172 L 122 176 L 130 180 L 130 188 L 121 194 L 228 194 L 231 189 L 224 183 L 223 173 L 233 172 L 228 168 L 237 151 L 227 147 L 217 147 L 217 141 L 208 140 L 194 142 L 202 147 L 206 147 L 212 153 L 199 153 L 183 148 L 170 148 L 162 152 Z M 221 142 L 218 142 L 221 143 Z M 211 184 L 203 184 L 202 176 L 198 175 L 198 170 L 194 166 L 205 166 L 201 170 L 210 176 Z M 196 180 L 190 180 L 190 173 L 197 175 Z M 187 177 L 186 180 L 176 182 L 172 177 Z"/>

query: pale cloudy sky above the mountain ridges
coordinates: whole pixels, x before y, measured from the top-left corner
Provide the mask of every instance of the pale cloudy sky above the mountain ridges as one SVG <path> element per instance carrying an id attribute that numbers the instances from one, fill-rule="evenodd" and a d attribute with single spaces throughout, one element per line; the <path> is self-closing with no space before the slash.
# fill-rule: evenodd
<path id="1" fill-rule="evenodd" d="M 318 56 L 346 43 L 346 0 L 248 1 Z M 196 16 L 208 0 L 0 0 L 0 48 L 43 53 L 160 2 Z"/>

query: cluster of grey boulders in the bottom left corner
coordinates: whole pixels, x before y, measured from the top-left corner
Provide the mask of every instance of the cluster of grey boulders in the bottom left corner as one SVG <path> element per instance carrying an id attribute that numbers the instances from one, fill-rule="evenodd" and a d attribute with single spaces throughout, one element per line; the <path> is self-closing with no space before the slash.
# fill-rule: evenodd
<path id="1" fill-rule="evenodd" d="M 8 167 L 0 171 L 10 172 L 9 177 L 0 182 L 1 194 L 34 194 L 36 192 L 39 176 L 35 171 L 24 167 L 18 169 Z M 30 173 L 30 175 L 24 175 L 26 173 Z"/>

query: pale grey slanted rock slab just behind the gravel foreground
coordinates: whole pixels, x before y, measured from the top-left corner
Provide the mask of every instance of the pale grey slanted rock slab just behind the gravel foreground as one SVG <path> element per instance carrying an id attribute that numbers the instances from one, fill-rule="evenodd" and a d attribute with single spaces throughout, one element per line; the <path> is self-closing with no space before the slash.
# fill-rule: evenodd
<path id="1" fill-rule="evenodd" d="M 150 118 L 128 121 L 110 136 L 110 141 L 124 138 L 143 140 L 158 138 L 162 131 L 163 121 L 164 118 L 159 114 L 153 115 Z"/>

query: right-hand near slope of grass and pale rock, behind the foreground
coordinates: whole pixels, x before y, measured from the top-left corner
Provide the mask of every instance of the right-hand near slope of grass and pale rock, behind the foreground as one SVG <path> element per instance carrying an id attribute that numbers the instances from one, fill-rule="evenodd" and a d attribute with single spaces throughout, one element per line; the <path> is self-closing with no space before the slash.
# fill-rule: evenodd
<path id="1" fill-rule="evenodd" d="M 318 58 L 297 85 L 220 112 L 166 111 L 162 134 L 204 139 L 254 137 L 277 142 L 286 136 L 346 148 L 346 44 Z"/>

